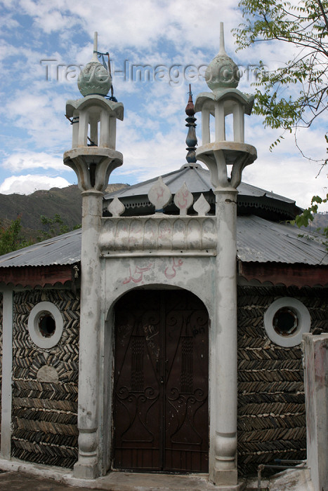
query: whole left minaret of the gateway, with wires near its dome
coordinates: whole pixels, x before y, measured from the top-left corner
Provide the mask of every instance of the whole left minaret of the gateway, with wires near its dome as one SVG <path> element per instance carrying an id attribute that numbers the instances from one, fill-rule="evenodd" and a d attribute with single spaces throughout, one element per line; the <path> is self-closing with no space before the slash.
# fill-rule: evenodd
<path id="1" fill-rule="evenodd" d="M 79 334 L 79 459 L 74 466 L 77 478 L 100 475 L 99 322 L 100 252 L 103 193 L 112 170 L 122 166 L 123 156 L 115 150 L 116 121 L 123 119 L 123 105 L 105 98 L 112 86 L 107 69 L 98 62 L 97 33 L 93 57 L 82 70 L 78 87 L 84 96 L 66 103 L 72 122 L 72 149 L 64 163 L 77 173 L 82 194 L 81 321 Z"/>

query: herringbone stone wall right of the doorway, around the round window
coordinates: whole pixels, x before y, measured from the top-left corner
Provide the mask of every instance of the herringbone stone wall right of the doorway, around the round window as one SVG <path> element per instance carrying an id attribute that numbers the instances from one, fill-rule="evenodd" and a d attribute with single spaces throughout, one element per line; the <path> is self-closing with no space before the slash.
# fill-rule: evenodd
<path id="1" fill-rule="evenodd" d="M 328 332 L 328 290 L 238 289 L 238 466 L 255 474 L 274 459 L 306 459 L 306 414 L 301 347 L 270 342 L 263 326 L 269 305 L 294 297 L 308 307 L 311 331 Z"/>

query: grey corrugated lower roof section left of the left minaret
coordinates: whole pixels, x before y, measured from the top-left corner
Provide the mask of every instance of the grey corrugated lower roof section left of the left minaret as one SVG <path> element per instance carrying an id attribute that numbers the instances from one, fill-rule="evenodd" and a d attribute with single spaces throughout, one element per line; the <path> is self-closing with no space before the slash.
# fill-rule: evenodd
<path id="1" fill-rule="evenodd" d="M 81 229 L 0 256 L 0 268 L 74 264 L 80 260 Z"/>

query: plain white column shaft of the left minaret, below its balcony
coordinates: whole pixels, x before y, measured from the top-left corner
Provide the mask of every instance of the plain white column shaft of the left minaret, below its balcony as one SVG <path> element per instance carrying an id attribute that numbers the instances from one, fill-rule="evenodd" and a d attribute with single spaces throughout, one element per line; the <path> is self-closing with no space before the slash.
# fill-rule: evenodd
<path id="1" fill-rule="evenodd" d="M 103 193 L 82 192 L 81 321 L 79 335 L 79 460 L 74 476 L 93 479 L 100 475 L 99 459 L 99 322 L 100 253 Z"/>

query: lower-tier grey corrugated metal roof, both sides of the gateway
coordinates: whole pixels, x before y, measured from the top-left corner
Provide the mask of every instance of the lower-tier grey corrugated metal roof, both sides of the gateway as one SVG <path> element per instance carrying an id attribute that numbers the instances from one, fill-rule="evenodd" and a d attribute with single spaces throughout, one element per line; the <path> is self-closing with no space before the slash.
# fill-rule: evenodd
<path id="1" fill-rule="evenodd" d="M 237 217 L 237 257 L 242 262 L 327 266 L 328 253 L 322 241 L 322 236 L 289 224 L 255 215 Z M 80 259 L 81 229 L 1 256 L 0 268 L 74 264 Z"/>

